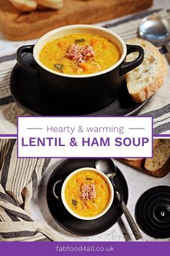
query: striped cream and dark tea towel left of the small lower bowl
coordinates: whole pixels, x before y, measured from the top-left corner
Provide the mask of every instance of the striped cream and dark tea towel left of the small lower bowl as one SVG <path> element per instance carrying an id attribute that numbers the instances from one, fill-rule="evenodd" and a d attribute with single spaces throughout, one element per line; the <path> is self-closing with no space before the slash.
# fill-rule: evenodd
<path id="1" fill-rule="evenodd" d="M 16 140 L 0 140 L 0 242 L 58 241 L 30 217 L 30 200 L 50 159 L 17 159 Z"/>

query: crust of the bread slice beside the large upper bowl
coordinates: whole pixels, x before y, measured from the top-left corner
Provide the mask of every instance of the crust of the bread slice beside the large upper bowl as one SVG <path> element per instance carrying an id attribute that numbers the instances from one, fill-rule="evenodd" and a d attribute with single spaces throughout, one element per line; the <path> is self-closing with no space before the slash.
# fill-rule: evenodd
<path id="1" fill-rule="evenodd" d="M 129 40 L 128 43 L 137 45 L 142 45 L 143 43 L 145 43 L 146 48 L 149 48 L 150 51 L 152 51 L 152 53 L 154 54 L 154 56 L 156 56 L 161 67 L 161 69 L 156 74 L 156 77 L 153 80 L 153 82 L 148 83 L 145 87 L 140 88 L 140 90 L 138 90 L 138 92 L 135 93 L 133 93 L 133 91 L 131 90 L 130 75 L 126 74 L 128 92 L 130 93 L 130 96 L 133 99 L 133 101 L 135 101 L 136 103 L 140 103 L 146 101 L 146 99 L 150 98 L 151 95 L 153 95 L 153 93 L 155 93 L 159 88 L 161 88 L 162 85 L 164 85 L 168 69 L 164 57 L 157 50 L 157 48 L 153 46 L 152 43 L 149 43 L 148 41 L 140 38 L 134 38 L 133 40 Z"/>

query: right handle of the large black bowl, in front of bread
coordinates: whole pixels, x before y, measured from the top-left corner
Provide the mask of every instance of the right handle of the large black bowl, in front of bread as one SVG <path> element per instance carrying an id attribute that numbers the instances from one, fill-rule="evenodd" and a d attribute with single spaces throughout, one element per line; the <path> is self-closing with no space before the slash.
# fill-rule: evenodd
<path id="1" fill-rule="evenodd" d="M 134 59 L 134 61 L 125 62 L 122 64 L 122 67 L 120 67 L 120 75 L 126 74 L 130 72 L 131 70 L 135 69 L 135 67 L 138 67 L 144 59 L 144 51 L 141 46 L 135 46 L 127 44 L 127 55 L 133 53 L 134 51 L 137 51 L 139 53 L 138 58 Z"/>

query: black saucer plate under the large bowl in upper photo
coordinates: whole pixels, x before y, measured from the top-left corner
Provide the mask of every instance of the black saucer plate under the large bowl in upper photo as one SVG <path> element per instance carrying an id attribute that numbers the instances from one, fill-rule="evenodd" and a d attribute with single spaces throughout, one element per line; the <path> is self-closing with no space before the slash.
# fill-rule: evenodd
<path id="1" fill-rule="evenodd" d="M 32 66 L 35 65 L 34 60 L 30 54 L 25 54 L 24 59 Z M 63 113 L 60 104 L 55 101 L 49 101 L 42 97 L 39 91 L 37 77 L 34 77 L 29 72 L 15 65 L 12 70 L 10 80 L 10 90 L 12 97 L 17 104 L 33 115 L 40 116 L 76 116 L 79 113 Z M 130 116 L 135 114 L 142 108 L 147 101 L 143 103 L 135 103 L 130 99 L 126 85 L 123 86 L 120 96 L 99 111 L 92 113 L 84 113 L 88 116 Z M 92 97 L 93 95 L 91 95 Z"/>

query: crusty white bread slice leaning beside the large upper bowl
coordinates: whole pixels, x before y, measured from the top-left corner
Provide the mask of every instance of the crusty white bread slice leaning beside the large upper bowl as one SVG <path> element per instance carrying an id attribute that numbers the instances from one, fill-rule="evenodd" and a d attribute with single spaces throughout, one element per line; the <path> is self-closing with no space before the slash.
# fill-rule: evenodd
<path id="1" fill-rule="evenodd" d="M 150 98 L 153 93 L 164 85 L 167 65 L 158 49 L 146 40 L 134 38 L 127 42 L 142 46 L 145 52 L 143 63 L 126 74 L 128 92 L 136 103 Z M 127 61 L 133 61 L 138 53 L 127 56 Z"/>

